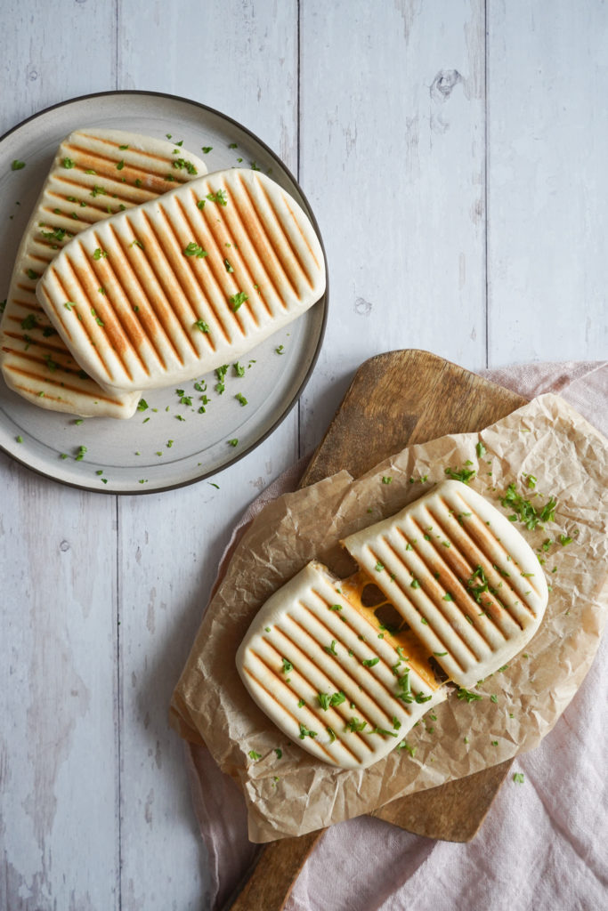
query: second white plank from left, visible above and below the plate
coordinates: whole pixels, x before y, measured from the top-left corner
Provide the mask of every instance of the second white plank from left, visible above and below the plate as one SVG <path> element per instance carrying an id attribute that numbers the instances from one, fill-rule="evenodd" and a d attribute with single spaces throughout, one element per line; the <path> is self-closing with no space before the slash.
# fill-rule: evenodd
<path id="1" fill-rule="evenodd" d="M 252 128 L 294 168 L 296 13 L 295 3 L 239 0 L 204 9 L 187 0 L 158 5 L 152 15 L 148 4 L 123 4 L 119 87 L 145 86 L 209 104 Z M 152 47 L 165 56 L 160 67 Z M 211 479 L 220 489 L 202 481 L 119 501 L 126 908 L 198 909 L 207 893 L 208 862 L 196 833 L 182 744 L 168 724 L 170 695 L 233 524 L 297 456 L 294 409 L 246 460 Z"/>

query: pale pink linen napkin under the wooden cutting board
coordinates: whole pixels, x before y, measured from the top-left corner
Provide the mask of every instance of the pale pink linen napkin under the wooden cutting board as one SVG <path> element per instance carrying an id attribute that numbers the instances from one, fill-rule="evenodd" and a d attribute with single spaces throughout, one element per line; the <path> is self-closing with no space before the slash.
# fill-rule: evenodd
<path id="1" fill-rule="evenodd" d="M 608 435 L 608 362 L 532 363 L 483 374 L 526 398 L 559 393 Z M 294 490 L 307 459 L 249 507 L 223 555 L 213 590 L 244 529 L 275 496 Z M 237 786 L 204 747 L 186 744 L 194 807 L 221 907 L 260 850 L 247 840 Z M 600 911 L 608 908 L 608 646 L 541 746 L 518 757 L 478 836 L 434 841 L 361 816 L 327 830 L 285 911 Z M 523 775 L 523 782 L 513 780 Z"/>

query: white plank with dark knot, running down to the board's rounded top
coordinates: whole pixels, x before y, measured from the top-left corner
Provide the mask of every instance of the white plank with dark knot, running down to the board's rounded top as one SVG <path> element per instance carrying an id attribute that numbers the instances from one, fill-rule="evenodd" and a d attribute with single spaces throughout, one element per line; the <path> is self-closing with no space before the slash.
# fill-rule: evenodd
<path id="1" fill-rule="evenodd" d="M 315 0 L 301 35 L 301 181 L 330 267 L 309 451 L 376 353 L 485 365 L 484 4 Z"/>

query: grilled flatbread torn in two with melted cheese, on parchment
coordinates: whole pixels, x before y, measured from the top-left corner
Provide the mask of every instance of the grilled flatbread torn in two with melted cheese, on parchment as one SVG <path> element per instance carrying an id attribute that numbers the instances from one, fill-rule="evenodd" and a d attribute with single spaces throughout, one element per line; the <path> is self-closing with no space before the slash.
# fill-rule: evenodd
<path id="1" fill-rule="evenodd" d="M 353 769 L 376 763 L 445 700 L 446 678 L 469 687 L 512 660 L 538 630 L 548 589 L 520 532 L 459 481 L 343 544 L 359 572 L 304 567 L 260 609 L 236 663 L 277 727 Z M 370 587 L 381 595 L 366 607 Z M 393 626 L 382 622 L 386 606 Z"/>

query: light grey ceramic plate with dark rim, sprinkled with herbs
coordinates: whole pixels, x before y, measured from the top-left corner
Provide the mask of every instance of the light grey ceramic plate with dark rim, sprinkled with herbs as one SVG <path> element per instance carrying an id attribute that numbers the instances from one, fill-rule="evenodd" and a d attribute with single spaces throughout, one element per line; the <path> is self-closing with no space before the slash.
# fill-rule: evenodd
<path id="1" fill-rule="evenodd" d="M 200 155 L 210 172 L 250 168 L 254 162 L 300 203 L 321 241 L 293 175 L 262 140 L 231 118 L 185 98 L 152 92 L 90 95 L 49 107 L 0 138 L 0 251 L 5 263 L 0 300 L 8 292 L 21 235 L 57 146 L 80 127 L 130 129 L 158 138 L 169 133 Z M 233 143 L 236 148 L 230 148 Z M 210 152 L 201 151 L 210 146 Z M 26 167 L 12 170 L 14 159 Z M 223 394 L 215 392 L 214 374 L 199 377 L 209 399 L 204 414 L 199 413 L 201 390 L 194 381 L 183 384 L 191 405 L 180 402 L 173 388 L 152 390 L 145 394 L 148 410 L 128 421 L 96 417 L 77 422 L 74 415 L 36 408 L 0 377 L 0 448 L 56 481 L 106 493 L 159 491 L 211 476 L 272 433 L 297 401 L 321 346 L 326 303 L 325 292 L 298 320 L 252 349 L 242 359 L 242 377 L 231 365 Z M 240 404 L 237 393 L 248 404 Z M 87 451 L 77 460 L 81 446 Z"/>

